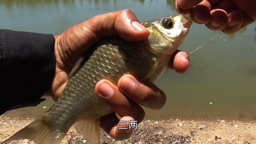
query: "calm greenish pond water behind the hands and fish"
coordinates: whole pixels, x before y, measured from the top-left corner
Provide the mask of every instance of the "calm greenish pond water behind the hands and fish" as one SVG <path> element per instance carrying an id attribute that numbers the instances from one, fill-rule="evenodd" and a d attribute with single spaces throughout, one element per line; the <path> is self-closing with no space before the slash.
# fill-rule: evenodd
<path id="1" fill-rule="evenodd" d="M 0 28 L 58 35 L 97 14 L 127 8 L 141 22 L 177 13 L 174 0 L 1 0 Z M 193 24 L 180 50 L 192 52 L 216 34 Z M 168 70 L 156 82 L 167 102 L 161 110 L 146 109 L 148 117 L 256 118 L 255 23 L 233 35 L 221 33 L 189 56 L 186 74 Z M 47 98 L 36 108 L 8 113 L 38 115 L 51 104 Z"/>

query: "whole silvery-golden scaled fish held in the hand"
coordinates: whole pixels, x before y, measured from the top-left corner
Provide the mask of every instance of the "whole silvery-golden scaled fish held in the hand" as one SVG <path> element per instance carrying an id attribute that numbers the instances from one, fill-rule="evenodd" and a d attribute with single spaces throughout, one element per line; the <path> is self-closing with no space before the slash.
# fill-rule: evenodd
<path id="1" fill-rule="evenodd" d="M 112 110 L 95 94 L 96 83 L 106 79 L 117 85 L 124 74 L 132 74 L 146 84 L 154 84 L 188 34 L 192 21 L 184 14 L 176 14 L 141 24 L 150 31 L 146 40 L 127 42 L 115 36 L 89 48 L 70 72 L 58 101 L 0 144 L 18 139 L 59 144 L 73 125 L 90 143 L 100 142 L 100 118 Z"/>

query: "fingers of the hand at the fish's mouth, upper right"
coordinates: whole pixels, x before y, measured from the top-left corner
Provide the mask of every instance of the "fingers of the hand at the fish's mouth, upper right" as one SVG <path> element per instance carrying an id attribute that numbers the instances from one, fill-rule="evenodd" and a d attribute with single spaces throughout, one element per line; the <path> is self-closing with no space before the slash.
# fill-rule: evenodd
<path id="1" fill-rule="evenodd" d="M 233 34 L 256 20 L 256 0 L 176 0 L 176 9 L 211 30 Z"/>

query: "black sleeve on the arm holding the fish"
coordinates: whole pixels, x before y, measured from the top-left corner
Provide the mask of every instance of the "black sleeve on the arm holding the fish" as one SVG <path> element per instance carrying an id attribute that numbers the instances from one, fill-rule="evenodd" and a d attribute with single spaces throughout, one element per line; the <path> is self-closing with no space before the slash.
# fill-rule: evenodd
<path id="1" fill-rule="evenodd" d="M 0 30 L 0 115 L 43 100 L 56 67 L 54 42 L 52 34 Z"/>

